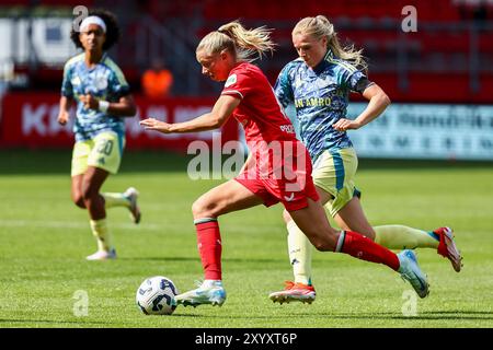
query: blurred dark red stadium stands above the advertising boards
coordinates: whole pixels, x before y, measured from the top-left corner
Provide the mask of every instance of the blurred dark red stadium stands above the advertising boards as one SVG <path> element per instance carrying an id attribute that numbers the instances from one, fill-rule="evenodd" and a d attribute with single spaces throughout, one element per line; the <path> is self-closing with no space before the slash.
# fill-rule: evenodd
<path id="1" fill-rule="evenodd" d="M 297 57 L 290 33 L 303 16 L 324 14 L 346 45 L 364 48 L 369 78 L 394 102 L 492 102 L 493 0 L 2 0 L 0 95 L 5 91 L 59 91 L 62 68 L 77 50 L 69 33 L 74 8 L 113 11 L 122 27 L 111 57 L 135 94 L 142 74 L 161 61 L 172 74 L 171 96 L 215 96 L 195 60 L 200 38 L 221 24 L 273 28 L 278 48 L 259 62 L 274 83 Z M 416 9 L 416 32 L 404 32 L 403 8 Z"/>

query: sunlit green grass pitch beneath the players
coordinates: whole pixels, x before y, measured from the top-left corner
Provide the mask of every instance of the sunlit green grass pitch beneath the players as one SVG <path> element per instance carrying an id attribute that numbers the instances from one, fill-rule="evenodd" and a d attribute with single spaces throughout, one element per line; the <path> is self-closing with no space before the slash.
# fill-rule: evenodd
<path id="1" fill-rule="evenodd" d="M 186 160 L 127 152 L 106 191 L 140 190 L 142 222 L 108 210 L 119 258 L 85 261 L 95 249 L 88 213 L 70 201 L 70 151 L 0 151 L 0 328 L 2 327 L 492 327 L 493 165 L 362 161 L 357 184 L 375 225 L 455 229 L 465 267 L 456 273 L 435 250 L 417 252 L 431 294 L 406 316 L 411 288 L 381 265 L 313 253 L 317 301 L 273 304 L 267 295 L 291 279 L 282 207 L 220 219 L 222 307 L 177 307 L 145 316 L 140 282 L 171 278 L 180 291 L 202 278 L 191 205 L 220 180 L 188 179 Z M 89 298 L 77 316 L 78 291 Z M 76 296 L 76 298 L 74 298 Z"/>

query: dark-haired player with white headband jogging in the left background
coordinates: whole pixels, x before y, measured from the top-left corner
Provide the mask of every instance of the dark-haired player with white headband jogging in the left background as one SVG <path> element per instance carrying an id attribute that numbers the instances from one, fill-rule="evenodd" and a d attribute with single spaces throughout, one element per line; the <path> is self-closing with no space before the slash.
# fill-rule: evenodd
<path id="1" fill-rule="evenodd" d="M 106 224 L 106 208 L 126 207 L 134 222 L 140 221 L 135 188 L 129 187 L 123 194 L 100 194 L 107 176 L 118 172 L 125 147 L 123 117 L 136 114 L 130 88 L 106 54 L 118 36 L 119 28 L 111 12 L 92 12 L 79 31 L 72 28 L 71 39 L 83 52 L 71 58 L 64 69 L 59 124 L 67 124 L 70 106 L 77 102 L 71 197 L 79 208 L 88 209 L 98 241 L 98 252 L 88 256 L 88 260 L 116 257 Z"/>

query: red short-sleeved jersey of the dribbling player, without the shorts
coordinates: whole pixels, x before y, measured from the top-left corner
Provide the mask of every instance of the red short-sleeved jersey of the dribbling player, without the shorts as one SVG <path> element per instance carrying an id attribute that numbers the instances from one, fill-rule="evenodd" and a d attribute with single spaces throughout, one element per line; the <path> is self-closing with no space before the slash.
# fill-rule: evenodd
<path id="1" fill-rule="evenodd" d="M 233 117 L 243 126 L 248 143 L 296 141 L 295 128 L 259 67 L 248 62 L 234 67 L 221 95 L 241 98 Z"/>

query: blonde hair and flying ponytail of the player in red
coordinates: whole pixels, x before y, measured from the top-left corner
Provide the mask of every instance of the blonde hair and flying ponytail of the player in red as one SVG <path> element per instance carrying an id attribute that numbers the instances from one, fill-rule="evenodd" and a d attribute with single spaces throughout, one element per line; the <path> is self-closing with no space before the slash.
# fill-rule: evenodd
<path id="1" fill-rule="evenodd" d="M 240 22 L 233 21 L 207 34 L 198 44 L 197 51 L 206 49 L 209 54 L 218 54 L 228 49 L 238 61 L 252 62 L 262 59 L 265 52 L 274 51 L 276 44 L 271 39 L 271 32 L 265 26 L 245 30 Z"/>

